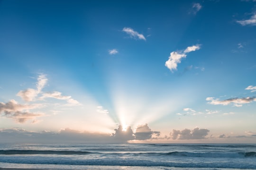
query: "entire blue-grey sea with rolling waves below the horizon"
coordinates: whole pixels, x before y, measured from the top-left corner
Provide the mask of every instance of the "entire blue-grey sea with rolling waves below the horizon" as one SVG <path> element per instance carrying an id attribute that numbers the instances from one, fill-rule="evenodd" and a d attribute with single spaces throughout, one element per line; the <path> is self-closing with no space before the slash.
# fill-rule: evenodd
<path id="1" fill-rule="evenodd" d="M 256 144 L 0 144 L 0 168 L 256 169 Z"/>

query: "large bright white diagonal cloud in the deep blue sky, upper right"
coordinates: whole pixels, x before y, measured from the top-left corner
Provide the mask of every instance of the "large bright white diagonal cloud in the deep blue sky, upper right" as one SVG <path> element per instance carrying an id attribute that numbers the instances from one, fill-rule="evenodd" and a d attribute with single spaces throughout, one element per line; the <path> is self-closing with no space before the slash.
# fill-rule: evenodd
<path id="1" fill-rule="evenodd" d="M 177 70 L 177 64 L 181 63 L 181 59 L 186 58 L 187 53 L 199 49 L 200 45 L 197 44 L 187 47 L 184 51 L 173 51 L 170 53 L 169 59 L 165 62 L 165 66 L 173 72 L 173 70 Z"/>

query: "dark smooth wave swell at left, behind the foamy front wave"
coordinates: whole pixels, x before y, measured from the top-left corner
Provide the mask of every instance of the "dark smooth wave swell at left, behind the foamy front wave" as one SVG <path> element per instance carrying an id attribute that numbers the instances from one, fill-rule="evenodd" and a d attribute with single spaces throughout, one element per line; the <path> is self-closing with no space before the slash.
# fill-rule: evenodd
<path id="1" fill-rule="evenodd" d="M 0 154 L 91 154 L 87 151 L 0 150 Z"/>

